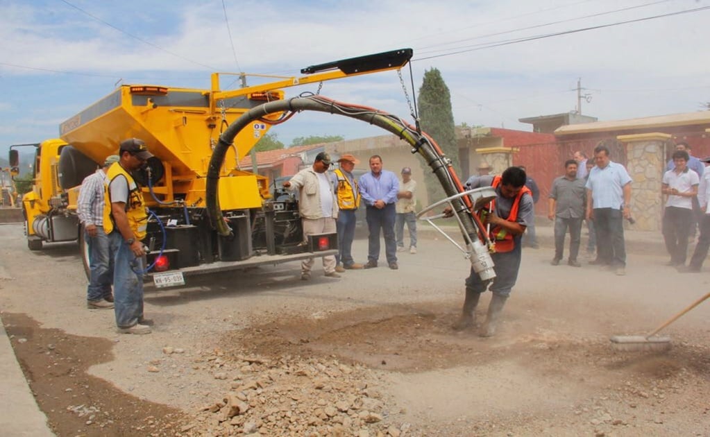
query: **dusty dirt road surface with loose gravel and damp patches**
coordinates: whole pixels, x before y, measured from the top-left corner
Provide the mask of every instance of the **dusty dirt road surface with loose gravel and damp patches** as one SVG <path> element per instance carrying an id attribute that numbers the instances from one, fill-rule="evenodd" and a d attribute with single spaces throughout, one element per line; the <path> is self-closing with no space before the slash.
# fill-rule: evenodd
<path id="1" fill-rule="evenodd" d="M 397 271 L 304 282 L 292 262 L 148 287 L 153 333 L 121 336 L 86 309 L 75 245 L 31 253 L 20 225 L 0 240 L 2 319 L 58 436 L 710 435 L 710 304 L 667 328 L 666 353 L 608 341 L 708 289 L 662 253 L 618 277 L 525 249 L 493 338 L 450 328 L 468 267 L 441 238 Z"/>

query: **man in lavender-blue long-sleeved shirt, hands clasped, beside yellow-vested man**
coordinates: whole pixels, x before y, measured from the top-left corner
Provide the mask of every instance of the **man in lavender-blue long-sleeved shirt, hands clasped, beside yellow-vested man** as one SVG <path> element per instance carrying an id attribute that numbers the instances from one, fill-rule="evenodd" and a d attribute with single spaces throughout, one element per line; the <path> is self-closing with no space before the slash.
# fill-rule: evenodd
<path id="1" fill-rule="evenodd" d="M 370 232 L 368 238 L 366 269 L 377 267 L 380 258 L 380 230 L 385 237 L 385 255 L 392 270 L 397 270 L 397 238 L 395 219 L 399 179 L 388 170 L 382 170 L 382 157 L 370 157 L 370 172 L 359 179 L 359 190 L 365 202 L 365 217 Z"/>

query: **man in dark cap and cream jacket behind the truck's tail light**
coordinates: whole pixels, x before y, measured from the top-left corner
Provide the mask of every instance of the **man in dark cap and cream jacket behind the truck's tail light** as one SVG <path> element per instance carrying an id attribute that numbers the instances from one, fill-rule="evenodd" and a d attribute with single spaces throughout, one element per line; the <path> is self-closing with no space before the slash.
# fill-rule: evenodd
<path id="1" fill-rule="evenodd" d="M 299 190 L 298 212 L 303 226 L 303 238 L 315 233 L 335 233 L 338 218 L 338 202 L 333 192 L 331 179 L 326 175 L 330 167 L 330 155 L 321 152 L 313 166 L 297 172 L 283 187 Z M 301 279 L 310 280 L 313 258 L 301 262 Z M 335 272 L 335 255 L 323 257 L 323 269 L 327 277 L 340 277 Z"/>

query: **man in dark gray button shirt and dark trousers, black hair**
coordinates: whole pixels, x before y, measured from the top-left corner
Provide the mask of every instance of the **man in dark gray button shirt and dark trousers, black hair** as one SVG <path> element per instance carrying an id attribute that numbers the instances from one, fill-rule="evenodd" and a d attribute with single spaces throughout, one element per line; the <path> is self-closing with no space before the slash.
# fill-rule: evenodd
<path id="1" fill-rule="evenodd" d="M 564 253 L 564 236 L 569 228 L 569 260 L 573 267 L 581 267 L 577 261 L 581 222 L 584 219 L 586 188 L 584 179 L 577 179 L 577 161 L 564 162 L 564 176 L 557 177 L 550 189 L 547 218 L 555 221 L 555 258 L 550 264 L 558 265 Z"/>

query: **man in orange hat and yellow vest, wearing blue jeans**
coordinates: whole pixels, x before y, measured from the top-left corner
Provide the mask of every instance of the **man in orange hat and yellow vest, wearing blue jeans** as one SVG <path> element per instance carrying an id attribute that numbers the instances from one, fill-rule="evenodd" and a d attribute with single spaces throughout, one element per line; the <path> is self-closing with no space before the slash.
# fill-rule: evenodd
<path id="1" fill-rule="evenodd" d="M 355 238 L 355 211 L 360 206 L 360 192 L 352 171 L 360 161 L 346 153 L 338 160 L 340 168 L 333 171 L 335 195 L 338 199 L 338 220 L 335 223 L 338 232 L 338 255 L 336 255 L 336 272 L 349 269 L 361 269 L 362 264 L 353 260 L 351 253 Z M 342 264 L 341 264 L 342 263 Z"/>

